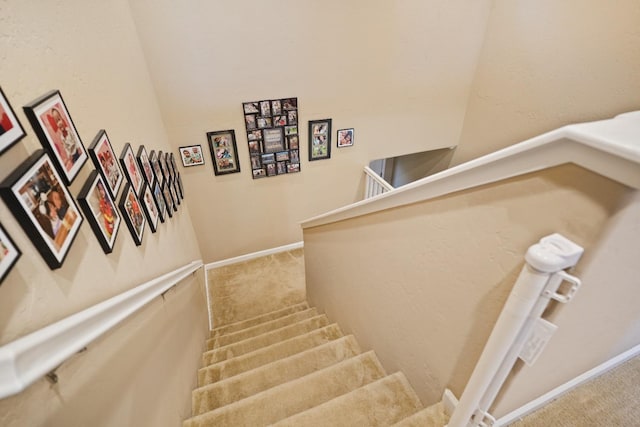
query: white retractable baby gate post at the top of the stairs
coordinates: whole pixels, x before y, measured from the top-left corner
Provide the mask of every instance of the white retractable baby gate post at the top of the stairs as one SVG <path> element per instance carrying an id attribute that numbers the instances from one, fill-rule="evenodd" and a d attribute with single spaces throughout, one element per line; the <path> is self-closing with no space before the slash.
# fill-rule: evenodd
<path id="1" fill-rule="evenodd" d="M 580 280 L 564 270 L 576 265 L 583 248 L 552 234 L 531 246 L 526 264 L 507 298 L 480 359 L 448 423 L 449 427 L 493 425 L 489 413 L 518 358 L 531 365 L 557 328 L 542 319 L 551 300 L 571 301 Z M 560 285 L 568 282 L 570 286 Z"/>

